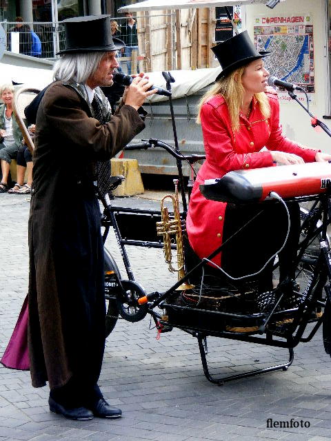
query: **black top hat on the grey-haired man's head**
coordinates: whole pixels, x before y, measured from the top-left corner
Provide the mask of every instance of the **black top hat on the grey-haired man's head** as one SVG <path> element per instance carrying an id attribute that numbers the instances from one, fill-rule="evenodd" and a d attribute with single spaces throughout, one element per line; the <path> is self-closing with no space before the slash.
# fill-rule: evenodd
<path id="1" fill-rule="evenodd" d="M 83 52 L 108 52 L 126 45 L 112 37 L 110 15 L 87 15 L 63 20 L 66 32 L 66 47 L 59 54 L 81 54 Z"/>

